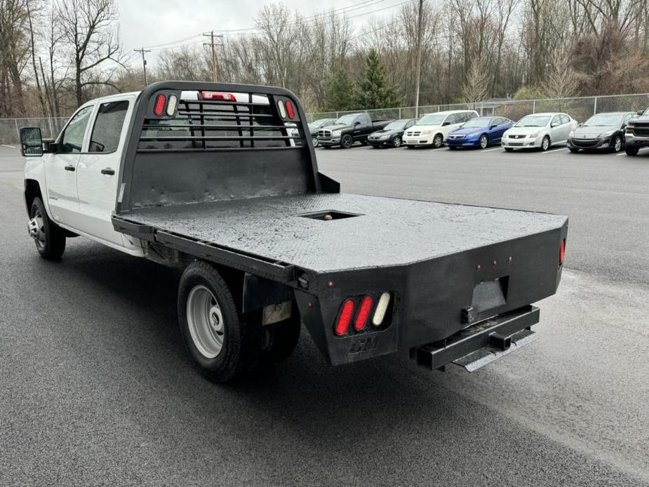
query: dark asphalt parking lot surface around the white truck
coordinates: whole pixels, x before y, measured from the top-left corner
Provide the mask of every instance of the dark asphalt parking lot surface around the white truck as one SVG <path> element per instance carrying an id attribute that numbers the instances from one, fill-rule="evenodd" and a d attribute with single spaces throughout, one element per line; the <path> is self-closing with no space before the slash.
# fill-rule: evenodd
<path id="1" fill-rule="evenodd" d="M 649 151 L 316 149 L 345 192 L 570 217 L 540 339 L 476 373 L 404 354 L 213 385 L 176 323 L 180 274 L 27 236 L 0 147 L 0 485 L 649 485 Z"/>

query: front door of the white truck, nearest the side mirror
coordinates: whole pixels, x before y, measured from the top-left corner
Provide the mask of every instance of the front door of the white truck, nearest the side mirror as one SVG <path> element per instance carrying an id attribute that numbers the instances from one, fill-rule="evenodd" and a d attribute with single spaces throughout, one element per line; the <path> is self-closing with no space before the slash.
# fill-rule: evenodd
<path id="1" fill-rule="evenodd" d="M 79 200 L 76 197 L 76 166 L 83 148 L 93 106 L 79 109 L 69 119 L 59 139 L 56 152 L 45 161 L 48 207 L 59 223 L 76 227 Z"/>

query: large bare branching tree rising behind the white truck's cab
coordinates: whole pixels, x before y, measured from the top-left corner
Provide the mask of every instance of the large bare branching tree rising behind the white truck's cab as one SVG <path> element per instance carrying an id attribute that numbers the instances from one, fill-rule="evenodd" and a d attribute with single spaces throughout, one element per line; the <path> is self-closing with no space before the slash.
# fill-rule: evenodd
<path id="1" fill-rule="evenodd" d="M 116 88 L 112 76 L 121 65 L 121 47 L 115 1 L 64 0 L 58 4 L 58 15 L 72 50 L 77 104 L 83 103 L 87 86 Z"/>

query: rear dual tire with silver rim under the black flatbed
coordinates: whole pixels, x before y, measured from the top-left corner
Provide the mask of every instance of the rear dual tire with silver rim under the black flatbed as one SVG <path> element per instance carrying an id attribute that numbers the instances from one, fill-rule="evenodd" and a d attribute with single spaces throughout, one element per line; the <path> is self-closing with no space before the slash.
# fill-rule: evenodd
<path id="1" fill-rule="evenodd" d="M 225 280 L 208 262 L 194 262 L 178 286 L 180 334 L 209 380 L 226 382 L 259 361 L 261 322 L 243 320 Z"/>

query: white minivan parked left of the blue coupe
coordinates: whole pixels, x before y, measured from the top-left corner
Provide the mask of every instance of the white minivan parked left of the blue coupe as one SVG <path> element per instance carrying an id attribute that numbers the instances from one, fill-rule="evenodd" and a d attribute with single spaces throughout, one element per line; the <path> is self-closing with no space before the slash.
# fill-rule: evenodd
<path id="1" fill-rule="evenodd" d="M 403 144 L 409 149 L 432 145 L 441 147 L 449 132 L 460 128 L 464 122 L 478 116 L 474 110 L 447 110 L 427 113 L 403 133 Z"/>

